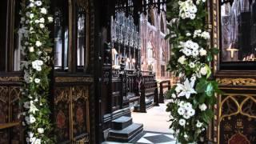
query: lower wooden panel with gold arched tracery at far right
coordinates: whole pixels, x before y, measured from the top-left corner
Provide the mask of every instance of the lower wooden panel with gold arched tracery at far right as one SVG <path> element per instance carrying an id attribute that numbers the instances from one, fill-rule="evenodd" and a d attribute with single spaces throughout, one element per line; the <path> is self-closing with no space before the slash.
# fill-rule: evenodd
<path id="1" fill-rule="evenodd" d="M 256 95 L 225 94 L 219 106 L 219 143 L 256 143 Z"/>

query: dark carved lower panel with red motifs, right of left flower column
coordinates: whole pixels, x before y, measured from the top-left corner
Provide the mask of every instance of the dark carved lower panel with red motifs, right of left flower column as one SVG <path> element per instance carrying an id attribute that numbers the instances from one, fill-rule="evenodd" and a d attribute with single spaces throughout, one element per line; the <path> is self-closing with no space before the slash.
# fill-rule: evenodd
<path id="1" fill-rule="evenodd" d="M 57 142 L 74 143 L 90 133 L 88 86 L 59 86 L 54 90 L 54 134 Z"/>

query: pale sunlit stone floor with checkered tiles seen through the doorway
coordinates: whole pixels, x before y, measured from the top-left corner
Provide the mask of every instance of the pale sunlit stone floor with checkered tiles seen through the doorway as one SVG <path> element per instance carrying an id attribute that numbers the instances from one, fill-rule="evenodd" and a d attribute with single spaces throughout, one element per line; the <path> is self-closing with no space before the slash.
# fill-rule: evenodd
<path id="1" fill-rule="evenodd" d="M 167 103 L 167 102 L 166 102 Z M 141 138 L 135 139 L 136 144 L 176 144 L 170 135 L 169 113 L 166 112 L 166 103 L 154 106 L 147 113 L 132 113 L 133 122 L 142 123 L 144 133 Z M 104 144 L 120 144 L 118 142 L 103 142 Z"/>

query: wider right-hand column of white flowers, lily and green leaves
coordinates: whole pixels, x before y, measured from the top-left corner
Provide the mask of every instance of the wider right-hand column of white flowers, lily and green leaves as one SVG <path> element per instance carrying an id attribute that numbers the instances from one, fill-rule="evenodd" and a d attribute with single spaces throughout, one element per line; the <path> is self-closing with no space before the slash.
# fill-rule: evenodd
<path id="1" fill-rule="evenodd" d="M 168 70 L 180 78 L 168 92 L 170 130 L 180 143 L 204 141 L 204 131 L 214 117 L 218 82 L 210 80 L 210 62 L 217 48 L 209 46 L 206 0 L 172 0 L 167 3 L 167 25 L 172 54 Z"/>

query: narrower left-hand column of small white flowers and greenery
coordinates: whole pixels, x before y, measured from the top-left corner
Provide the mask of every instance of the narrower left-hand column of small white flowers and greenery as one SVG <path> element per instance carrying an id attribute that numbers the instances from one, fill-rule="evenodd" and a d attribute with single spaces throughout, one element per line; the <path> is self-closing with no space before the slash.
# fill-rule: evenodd
<path id="1" fill-rule="evenodd" d="M 50 138 L 49 74 L 51 70 L 50 31 L 46 25 L 53 22 L 48 14 L 49 0 L 23 0 L 21 15 L 22 32 L 22 126 L 26 142 L 33 144 L 54 143 Z"/>

